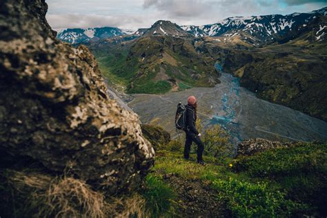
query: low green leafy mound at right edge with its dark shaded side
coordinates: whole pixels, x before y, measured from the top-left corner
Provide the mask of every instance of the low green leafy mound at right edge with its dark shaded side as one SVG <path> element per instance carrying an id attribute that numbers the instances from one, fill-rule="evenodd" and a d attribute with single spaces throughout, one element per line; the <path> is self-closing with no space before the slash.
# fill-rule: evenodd
<path id="1" fill-rule="evenodd" d="M 292 148 L 241 157 L 232 169 L 248 177 L 265 179 L 285 190 L 287 196 L 327 214 L 327 145 L 304 143 Z"/>

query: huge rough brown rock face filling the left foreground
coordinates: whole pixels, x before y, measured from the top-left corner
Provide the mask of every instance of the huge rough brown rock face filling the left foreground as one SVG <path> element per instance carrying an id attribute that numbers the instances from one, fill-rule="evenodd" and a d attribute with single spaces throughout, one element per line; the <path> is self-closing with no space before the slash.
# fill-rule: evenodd
<path id="1" fill-rule="evenodd" d="M 55 39 L 44 0 L 0 5 L 0 150 L 108 193 L 139 186 L 154 150 L 92 54 Z"/>

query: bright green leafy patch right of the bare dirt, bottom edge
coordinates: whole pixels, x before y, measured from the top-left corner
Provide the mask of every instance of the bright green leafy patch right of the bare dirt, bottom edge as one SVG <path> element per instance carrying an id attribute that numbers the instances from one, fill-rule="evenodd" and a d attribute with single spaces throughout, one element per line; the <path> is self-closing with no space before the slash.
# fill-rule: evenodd
<path id="1" fill-rule="evenodd" d="M 264 182 L 252 184 L 233 178 L 217 179 L 213 186 L 219 191 L 219 200 L 227 202 L 234 217 L 288 216 L 299 207 L 286 200 L 283 192 L 268 189 Z"/>

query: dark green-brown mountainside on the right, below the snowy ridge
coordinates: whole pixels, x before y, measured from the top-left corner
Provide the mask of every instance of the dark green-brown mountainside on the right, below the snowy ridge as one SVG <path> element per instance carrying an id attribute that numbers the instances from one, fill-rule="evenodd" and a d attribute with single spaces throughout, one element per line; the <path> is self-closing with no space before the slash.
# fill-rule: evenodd
<path id="1" fill-rule="evenodd" d="M 204 39 L 197 50 L 257 97 L 327 121 L 326 27 L 327 16 L 321 15 L 279 36 L 278 43 L 241 47 Z"/>

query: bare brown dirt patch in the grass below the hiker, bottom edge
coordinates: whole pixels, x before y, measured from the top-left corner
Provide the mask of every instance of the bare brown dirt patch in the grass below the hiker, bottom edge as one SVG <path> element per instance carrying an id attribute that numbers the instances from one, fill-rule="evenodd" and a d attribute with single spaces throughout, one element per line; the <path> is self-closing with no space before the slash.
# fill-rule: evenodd
<path id="1" fill-rule="evenodd" d="M 176 174 L 164 175 L 164 181 L 177 193 L 181 217 L 230 217 L 226 206 L 217 199 L 217 190 L 198 179 L 184 179 Z"/>

